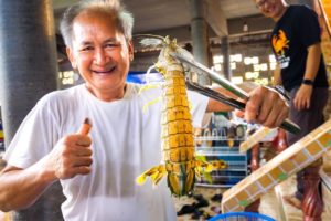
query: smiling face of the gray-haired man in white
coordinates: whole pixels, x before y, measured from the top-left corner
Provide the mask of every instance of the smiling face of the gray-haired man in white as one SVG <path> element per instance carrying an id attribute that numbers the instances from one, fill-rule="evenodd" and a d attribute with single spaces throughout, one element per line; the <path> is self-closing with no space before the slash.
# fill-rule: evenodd
<path id="1" fill-rule="evenodd" d="M 102 12 L 83 12 L 73 24 L 72 49 L 67 54 L 87 88 L 98 98 L 121 98 L 134 55 L 131 42 Z"/>

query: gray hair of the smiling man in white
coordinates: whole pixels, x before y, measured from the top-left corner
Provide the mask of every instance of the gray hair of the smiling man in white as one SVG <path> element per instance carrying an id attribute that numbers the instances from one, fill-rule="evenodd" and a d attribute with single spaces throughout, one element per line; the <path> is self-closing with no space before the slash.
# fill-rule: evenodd
<path id="1" fill-rule="evenodd" d="M 120 4 L 119 0 L 85 0 L 70 7 L 63 14 L 60 31 L 66 46 L 72 48 L 74 20 L 84 11 L 99 11 L 110 14 L 117 30 L 125 35 L 127 41 L 132 39 L 134 17 Z"/>

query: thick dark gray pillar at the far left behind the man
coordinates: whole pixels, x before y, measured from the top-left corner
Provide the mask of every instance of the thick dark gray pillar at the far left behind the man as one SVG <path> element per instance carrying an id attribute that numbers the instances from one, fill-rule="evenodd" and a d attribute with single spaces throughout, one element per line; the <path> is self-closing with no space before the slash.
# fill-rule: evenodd
<path id="1" fill-rule="evenodd" d="M 56 90 L 56 57 L 52 0 L 0 0 L 0 97 L 7 147 L 38 99 Z M 62 220 L 60 201 L 56 183 L 33 207 L 15 212 L 13 220 Z"/>

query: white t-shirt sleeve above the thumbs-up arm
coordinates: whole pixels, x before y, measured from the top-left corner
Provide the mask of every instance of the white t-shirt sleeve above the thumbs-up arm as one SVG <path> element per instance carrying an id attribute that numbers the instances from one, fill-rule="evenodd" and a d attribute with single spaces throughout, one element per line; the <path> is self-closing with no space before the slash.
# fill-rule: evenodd
<path id="1" fill-rule="evenodd" d="M 53 148 L 57 140 L 56 131 L 56 124 L 47 105 L 39 102 L 20 125 L 3 159 L 8 165 L 19 168 L 35 164 Z"/>

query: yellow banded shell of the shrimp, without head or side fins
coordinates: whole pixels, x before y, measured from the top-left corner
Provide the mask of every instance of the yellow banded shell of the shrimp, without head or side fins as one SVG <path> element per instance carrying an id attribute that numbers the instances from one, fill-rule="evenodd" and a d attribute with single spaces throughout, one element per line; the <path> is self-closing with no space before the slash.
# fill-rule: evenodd
<path id="1" fill-rule="evenodd" d="M 189 193 L 195 181 L 192 117 L 189 108 L 183 67 L 168 66 L 164 75 L 162 107 L 162 150 L 168 186 L 175 196 Z"/>

